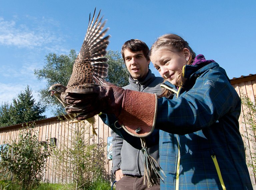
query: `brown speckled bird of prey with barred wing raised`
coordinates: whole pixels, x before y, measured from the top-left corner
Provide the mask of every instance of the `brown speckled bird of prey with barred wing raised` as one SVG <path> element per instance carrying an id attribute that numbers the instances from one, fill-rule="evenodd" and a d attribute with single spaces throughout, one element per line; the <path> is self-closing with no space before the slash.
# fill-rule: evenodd
<path id="1" fill-rule="evenodd" d="M 84 38 L 84 42 L 80 52 L 73 65 L 72 75 L 67 86 L 61 84 L 54 84 L 49 88 L 51 96 L 55 96 L 64 107 L 68 105 L 65 97 L 68 93 L 84 94 L 90 92 L 90 88 L 95 86 L 94 76 L 107 77 L 108 64 L 106 55 L 106 48 L 109 44 L 110 35 L 105 36 L 109 28 L 103 30 L 106 20 L 102 22 L 100 11 L 95 19 L 95 11 L 91 21 L 91 14 L 89 16 L 89 25 Z M 105 36 L 105 37 L 104 37 Z M 87 119 L 91 124 L 94 124 L 95 119 Z"/>

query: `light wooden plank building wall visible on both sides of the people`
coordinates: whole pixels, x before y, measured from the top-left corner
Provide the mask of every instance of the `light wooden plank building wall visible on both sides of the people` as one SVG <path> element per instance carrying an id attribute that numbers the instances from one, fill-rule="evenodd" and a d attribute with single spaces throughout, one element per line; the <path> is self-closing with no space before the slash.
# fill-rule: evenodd
<path id="1" fill-rule="evenodd" d="M 251 101 L 255 102 L 255 95 L 256 95 L 256 75 L 249 75 L 246 77 L 234 78 L 231 79 L 231 84 L 235 88 L 236 92 L 240 96 L 247 96 L 250 98 Z M 248 108 L 242 104 L 241 115 L 239 117 L 240 123 L 240 132 L 243 136 L 243 140 L 246 147 L 246 155 L 247 160 L 251 161 L 251 152 L 255 153 L 256 145 L 255 141 L 248 140 L 247 137 L 255 137 L 254 131 L 250 129 L 250 126 L 245 123 L 244 116 L 248 114 Z M 96 124 L 95 128 L 97 128 L 97 136 L 94 136 L 90 139 L 90 143 L 99 143 L 105 142 L 107 143 L 107 137 L 110 135 L 110 128 L 105 125 L 99 116 L 96 116 Z M 21 128 L 21 124 L 13 125 L 9 127 L 0 128 L 0 144 L 7 143 L 11 139 L 18 140 L 19 129 Z M 40 121 L 36 121 L 36 131 L 38 131 L 38 140 L 39 141 L 46 141 L 52 137 L 57 138 L 57 146 L 58 148 L 63 148 L 63 144 L 70 146 L 68 144 L 69 140 L 72 138 L 72 130 L 70 128 L 73 127 L 73 124 L 69 120 L 58 120 L 58 117 L 52 117 Z M 92 135 L 92 128 L 88 129 L 88 135 Z M 107 154 L 107 147 L 105 147 L 104 155 Z M 56 171 L 58 172 L 58 166 L 54 166 L 52 163 L 52 159 L 54 157 L 50 157 L 47 160 L 47 169 L 44 171 L 44 181 L 49 181 L 50 183 L 59 183 L 59 182 L 69 182 L 69 179 L 61 179 L 56 175 Z M 114 180 L 114 176 L 111 171 L 112 168 L 112 160 L 108 160 L 105 158 L 105 170 L 108 174 L 105 176 L 109 179 L 109 181 Z M 256 189 L 256 178 L 255 174 L 253 173 L 252 168 L 248 168 L 251 181 L 253 187 Z"/>

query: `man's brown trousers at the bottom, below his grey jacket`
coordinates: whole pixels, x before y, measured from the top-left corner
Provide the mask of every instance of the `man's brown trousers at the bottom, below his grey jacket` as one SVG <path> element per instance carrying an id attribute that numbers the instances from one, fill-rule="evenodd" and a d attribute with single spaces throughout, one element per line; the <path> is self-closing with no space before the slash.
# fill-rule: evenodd
<path id="1" fill-rule="evenodd" d="M 125 175 L 116 182 L 116 190 L 160 190 L 160 185 L 153 185 L 148 189 L 147 183 L 143 185 L 143 176 Z M 158 181 L 160 184 L 160 180 Z"/>

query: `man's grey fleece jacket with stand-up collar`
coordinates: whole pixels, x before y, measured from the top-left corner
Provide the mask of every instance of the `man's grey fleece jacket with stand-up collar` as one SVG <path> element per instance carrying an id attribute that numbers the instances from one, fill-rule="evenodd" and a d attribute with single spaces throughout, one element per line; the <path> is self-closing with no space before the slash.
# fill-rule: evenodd
<path id="1" fill-rule="evenodd" d="M 146 93 L 161 93 L 160 85 L 163 83 L 162 77 L 155 77 L 149 69 L 145 79 L 141 81 L 134 80 L 131 75 L 129 77 L 129 85 L 123 89 Z M 112 171 L 121 169 L 124 175 L 144 175 L 144 155 L 141 150 L 132 147 L 128 142 L 123 140 L 118 134 L 111 130 L 112 139 Z M 159 146 L 158 144 L 148 148 L 148 153 L 159 163 Z"/>

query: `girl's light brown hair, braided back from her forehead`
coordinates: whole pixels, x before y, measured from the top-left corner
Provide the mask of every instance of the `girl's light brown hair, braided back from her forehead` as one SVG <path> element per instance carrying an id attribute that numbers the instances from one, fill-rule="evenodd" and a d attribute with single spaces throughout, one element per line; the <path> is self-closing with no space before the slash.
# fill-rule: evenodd
<path id="1" fill-rule="evenodd" d="M 163 36 L 160 36 L 156 42 L 151 46 L 149 57 L 152 55 L 152 53 L 159 48 L 168 48 L 168 49 L 175 49 L 178 52 L 181 52 L 184 48 L 187 48 L 190 52 L 190 58 L 187 61 L 187 65 L 191 65 L 196 57 L 195 52 L 191 49 L 191 47 L 188 45 L 188 43 L 181 38 L 180 36 L 176 34 L 165 34 Z M 176 79 L 176 86 L 182 87 L 185 83 L 186 79 L 182 76 L 182 71 L 180 72 L 179 76 Z M 165 89 L 160 95 L 160 97 L 169 97 L 172 94 L 171 91 Z"/>

